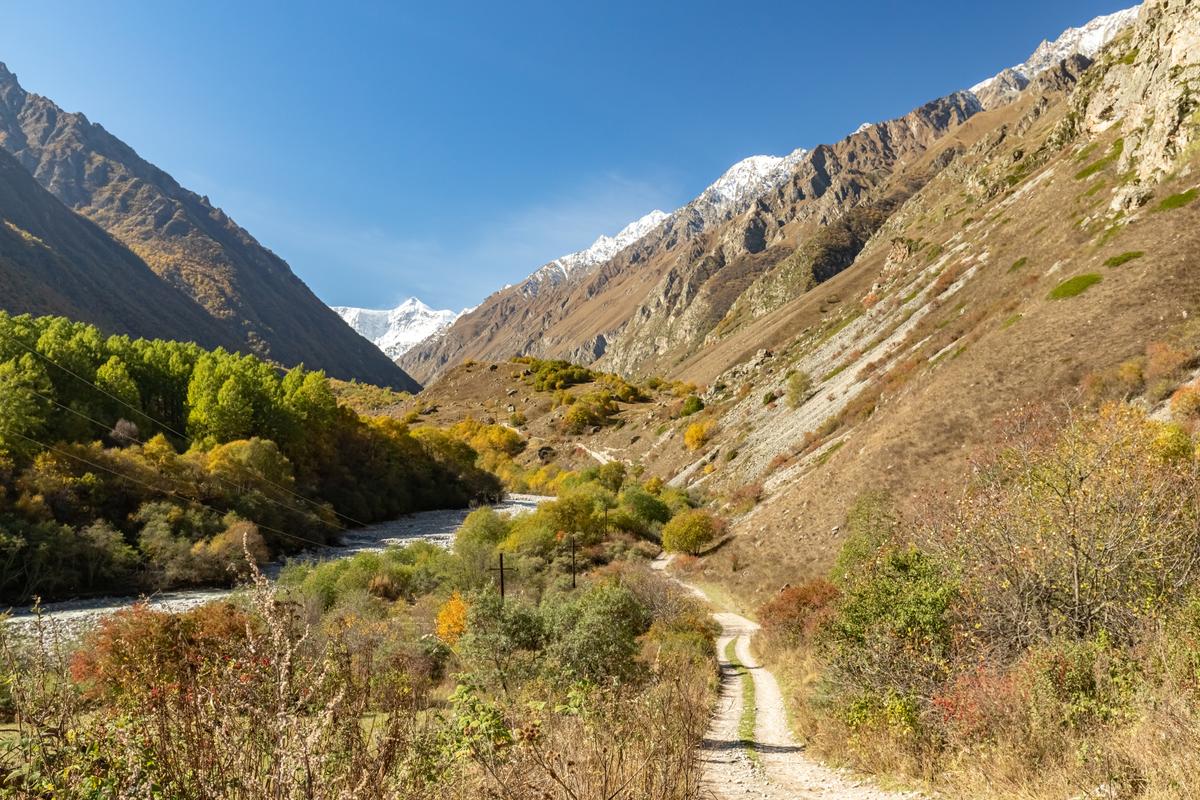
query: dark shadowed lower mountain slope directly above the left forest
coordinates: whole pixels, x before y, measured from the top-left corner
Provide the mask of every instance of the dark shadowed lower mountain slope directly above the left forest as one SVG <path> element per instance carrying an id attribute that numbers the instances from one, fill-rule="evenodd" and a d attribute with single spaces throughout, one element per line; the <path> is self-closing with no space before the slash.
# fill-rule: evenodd
<path id="1" fill-rule="evenodd" d="M 138 255 L 62 205 L 0 150 L 0 309 L 66 314 L 114 333 L 234 347 L 229 332 Z"/>

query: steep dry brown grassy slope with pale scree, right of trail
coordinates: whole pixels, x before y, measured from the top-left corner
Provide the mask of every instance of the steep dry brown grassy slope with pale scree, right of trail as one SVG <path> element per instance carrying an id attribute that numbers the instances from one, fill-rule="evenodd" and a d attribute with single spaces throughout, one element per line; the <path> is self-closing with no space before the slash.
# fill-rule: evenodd
<path id="1" fill-rule="evenodd" d="M 1093 399 L 1147 350 L 1195 357 L 1198 34 L 1194 5 L 1152 5 L 1069 95 L 1034 85 L 978 115 L 850 269 L 679 366 L 725 403 L 680 482 L 766 498 L 713 577 L 760 601 L 828 567 L 857 494 L 919 511 L 1015 409 Z M 764 404 L 793 371 L 805 402 Z"/>

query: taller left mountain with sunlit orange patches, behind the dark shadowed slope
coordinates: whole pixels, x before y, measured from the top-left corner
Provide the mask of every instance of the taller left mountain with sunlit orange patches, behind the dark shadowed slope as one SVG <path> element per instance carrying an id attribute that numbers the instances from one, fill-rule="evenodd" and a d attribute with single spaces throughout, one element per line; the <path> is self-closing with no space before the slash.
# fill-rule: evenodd
<path id="1" fill-rule="evenodd" d="M 338 378 L 419 389 L 208 198 L 180 186 L 83 114 L 64 112 L 25 91 L 2 64 L 0 148 L 68 209 L 132 251 L 167 285 L 192 297 L 232 345 L 283 365 L 304 362 Z M 94 279 L 103 282 L 101 275 Z M 94 313 L 86 297 L 78 300 L 74 308 L 48 311 L 73 311 L 80 319 L 101 323 L 100 311 Z M 131 315 L 126 326 L 148 325 Z M 196 337 L 202 335 L 205 331 L 197 329 Z"/>

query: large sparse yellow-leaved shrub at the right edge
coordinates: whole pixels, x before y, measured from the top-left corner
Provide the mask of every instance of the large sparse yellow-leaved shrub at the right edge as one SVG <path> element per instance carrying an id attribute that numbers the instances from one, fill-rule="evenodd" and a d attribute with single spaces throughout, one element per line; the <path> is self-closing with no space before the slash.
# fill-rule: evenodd
<path id="1" fill-rule="evenodd" d="M 998 650 L 1102 632 L 1129 642 L 1146 609 L 1200 569 L 1200 475 L 1166 458 L 1160 423 L 1108 405 L 1055 437 L 1013 440 L 930 542 L 960 565 L 978 636 Z"/>

